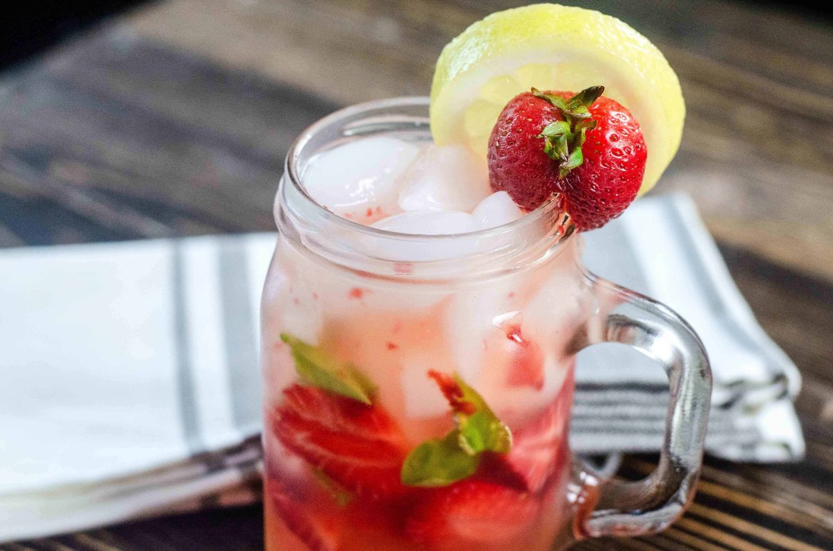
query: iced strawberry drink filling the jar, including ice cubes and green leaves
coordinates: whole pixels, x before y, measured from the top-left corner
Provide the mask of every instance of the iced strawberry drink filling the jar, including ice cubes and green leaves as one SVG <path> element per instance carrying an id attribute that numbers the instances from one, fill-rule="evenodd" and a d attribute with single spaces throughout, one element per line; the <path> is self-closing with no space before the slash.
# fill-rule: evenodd
<path id="1" fill-rule="evenodd" d="M 535 550 L 570 539 L 576 346 L 603 305 L 560 204 L 490 209 L 501 197 L 482 181 L 437 199 L 421 180 L 425 159 L 458 162 L 459 151 L 425 132 L 309 155 L 301 185 L 346 147 L 361 176 L 339 166 L 327 176 L 361 180 L 365 203 L 316 197 L 315 181 L 299 195 L 286 177 L 277 201 L 282 237 L 262 307 L 267 549 Z M 374 156 L 412 150 L 398 169 Z M 404 211 L 384 202 L 387 186 L 481 217 Z M 327 210 L 317 207 L 322 226 L 304 227 L 310 205 L 296 203 L 313 198 Z M 365 234 L 351 218 L 376 228 L 407 218 L 411 235 Z M 362 258 L 332 261 L 342 246 Z"/>

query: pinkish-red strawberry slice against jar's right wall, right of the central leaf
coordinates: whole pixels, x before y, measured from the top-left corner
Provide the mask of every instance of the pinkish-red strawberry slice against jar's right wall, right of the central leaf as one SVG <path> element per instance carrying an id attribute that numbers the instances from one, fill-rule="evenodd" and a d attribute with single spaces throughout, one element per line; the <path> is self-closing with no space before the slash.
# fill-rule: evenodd
<path id="1" fill-rule="evenodd" d="M 567 429 L 572 407 L 572 370 L 556 399 L 529 424 L 516 429 L 512 449 L 497 458 L 526 483 L 526 489 L 538 492 L 567 459 Z"/>

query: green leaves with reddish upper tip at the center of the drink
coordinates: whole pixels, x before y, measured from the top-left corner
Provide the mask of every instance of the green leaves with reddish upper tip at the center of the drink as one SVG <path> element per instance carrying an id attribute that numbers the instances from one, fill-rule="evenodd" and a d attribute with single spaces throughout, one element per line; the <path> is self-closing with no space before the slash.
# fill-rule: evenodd
<path id="1" fill-rule="evenodd" d="M 484 452 L 506 454 L 512 445 L 509 427 L 459 375 L 429 371 L 451 405 L 456 428 L 445 437 L 416 446 L 402 464 L 402 484 L 447 486 L 474 474 Z"/>

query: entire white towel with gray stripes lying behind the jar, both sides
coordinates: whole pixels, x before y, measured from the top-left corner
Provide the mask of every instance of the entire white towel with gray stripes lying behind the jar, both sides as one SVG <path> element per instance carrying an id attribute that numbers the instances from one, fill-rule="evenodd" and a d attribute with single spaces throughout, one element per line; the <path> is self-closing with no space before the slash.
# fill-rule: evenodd
<path id="1" fill-rule="evenodd" d="M 275 240 L 0 251 L 0 542 L 252 499 L 258 304 Z M 757 325 L 691 201 L 641 199 L 586 240 L 592 271 L 700 332 L 715 375 L 709 452 L 800 457 L 796 367 Z M 641 355 L 625 360 L 604 345 L 582 352 L 577 452 L 659 448 L 665 376 Z"/>

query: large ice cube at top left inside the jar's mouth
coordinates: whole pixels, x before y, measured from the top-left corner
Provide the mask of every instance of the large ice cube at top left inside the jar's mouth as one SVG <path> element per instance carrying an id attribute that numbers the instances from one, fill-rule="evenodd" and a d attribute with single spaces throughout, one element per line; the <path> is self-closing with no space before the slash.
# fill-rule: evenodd
<path id="1" fill-rule="evenodd" d="M 400 177 L 420 146 L 392 137 L 367 137 L 313 156 L 302 174 L 307 192 L 339 216 L 370 224 L 400 212 Z"/>

